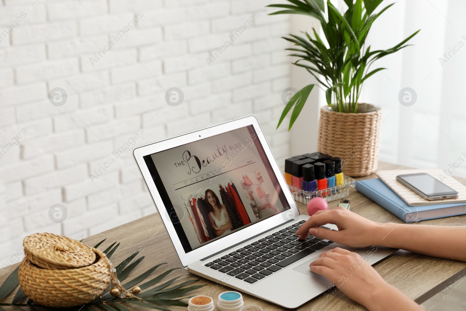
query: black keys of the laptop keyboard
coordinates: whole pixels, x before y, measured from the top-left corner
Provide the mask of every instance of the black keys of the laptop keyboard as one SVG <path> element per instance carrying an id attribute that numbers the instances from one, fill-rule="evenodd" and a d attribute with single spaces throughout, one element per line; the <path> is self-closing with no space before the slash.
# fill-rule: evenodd
<path id="1" fill-rule="evenodd" d="M 214 259 L 206 263 L 206 267 L 254 283 L 333 243 L 312 235 L 304 241 L 299 240 L 296 232 L 304 222 L 296 222 L 228 255 Z"/>

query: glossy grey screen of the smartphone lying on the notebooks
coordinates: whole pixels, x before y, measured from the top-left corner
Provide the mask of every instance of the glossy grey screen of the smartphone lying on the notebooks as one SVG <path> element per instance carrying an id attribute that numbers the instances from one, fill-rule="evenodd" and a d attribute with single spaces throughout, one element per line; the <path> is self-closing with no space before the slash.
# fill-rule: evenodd
<path id="1" fill-rule="evenodd" d="M 427 196 L 458 193 L 426 173 L 399 175 L 398 177 Z"/>

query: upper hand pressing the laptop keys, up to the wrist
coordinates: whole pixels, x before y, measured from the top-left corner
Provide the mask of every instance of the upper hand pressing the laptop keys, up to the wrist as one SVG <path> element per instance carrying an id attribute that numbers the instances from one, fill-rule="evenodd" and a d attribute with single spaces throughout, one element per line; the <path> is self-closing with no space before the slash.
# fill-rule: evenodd
<path id="1" fill-rule="evenodd" d="M 335 224 L 339 231 L 315 228 L 327 223 Z M 386 231 L 386 232 L 385 232 Z M 384 224 L 370 221 L 350 212 L 344 207 L 318 211 L 311 216 L 296 232 L 304 240 L 310 233 L 321 239 L 331 240 L 351 247 L 380 245 L 383 237 L 390 232 Z"/>

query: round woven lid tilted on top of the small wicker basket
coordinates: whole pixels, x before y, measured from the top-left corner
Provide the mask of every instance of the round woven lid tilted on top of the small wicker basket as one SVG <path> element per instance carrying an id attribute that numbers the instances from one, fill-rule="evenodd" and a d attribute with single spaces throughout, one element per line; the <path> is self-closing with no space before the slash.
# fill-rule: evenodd
<path id="1" fill-rule="evenodd" d="M 24 253 L 44 269 L 74 269 L 96 261 L 96 253 L 79 241 L 52 233 L 34 233 L 23 240 Z"/>

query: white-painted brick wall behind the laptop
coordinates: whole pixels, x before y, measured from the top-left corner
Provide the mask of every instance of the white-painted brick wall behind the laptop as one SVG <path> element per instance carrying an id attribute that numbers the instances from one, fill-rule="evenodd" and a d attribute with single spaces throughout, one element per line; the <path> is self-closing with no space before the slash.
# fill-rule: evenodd
<path id="1" fill-rule="evenodd" d="M 0 159 L 0 268 L 28 234 L 82 239 L 155 212 L 130 151 L 94 183 L 89 177 L 138 128 L 136 146 L 253 114 L 277 159 L 287 157 L 288 132 L 275 126 L 290 86 L 280 39 L 289 21 L 268 16 L 267 2 L 0 1 L 0 33 L 27 14 L 0 42 L 0 148 L 27 130 Z M 208 66 L 210 52 L 256 11 L 254 27 Z M 89 58 L 125 26 L 93 66 Z M 68 93 L 62 107 L 48 101 L 55 87 Z M 185 94 L 179 107 L 164 101 L 171 87 Z M 54 204 L 67 208 L 66 221 L 48 218 Z"/>

